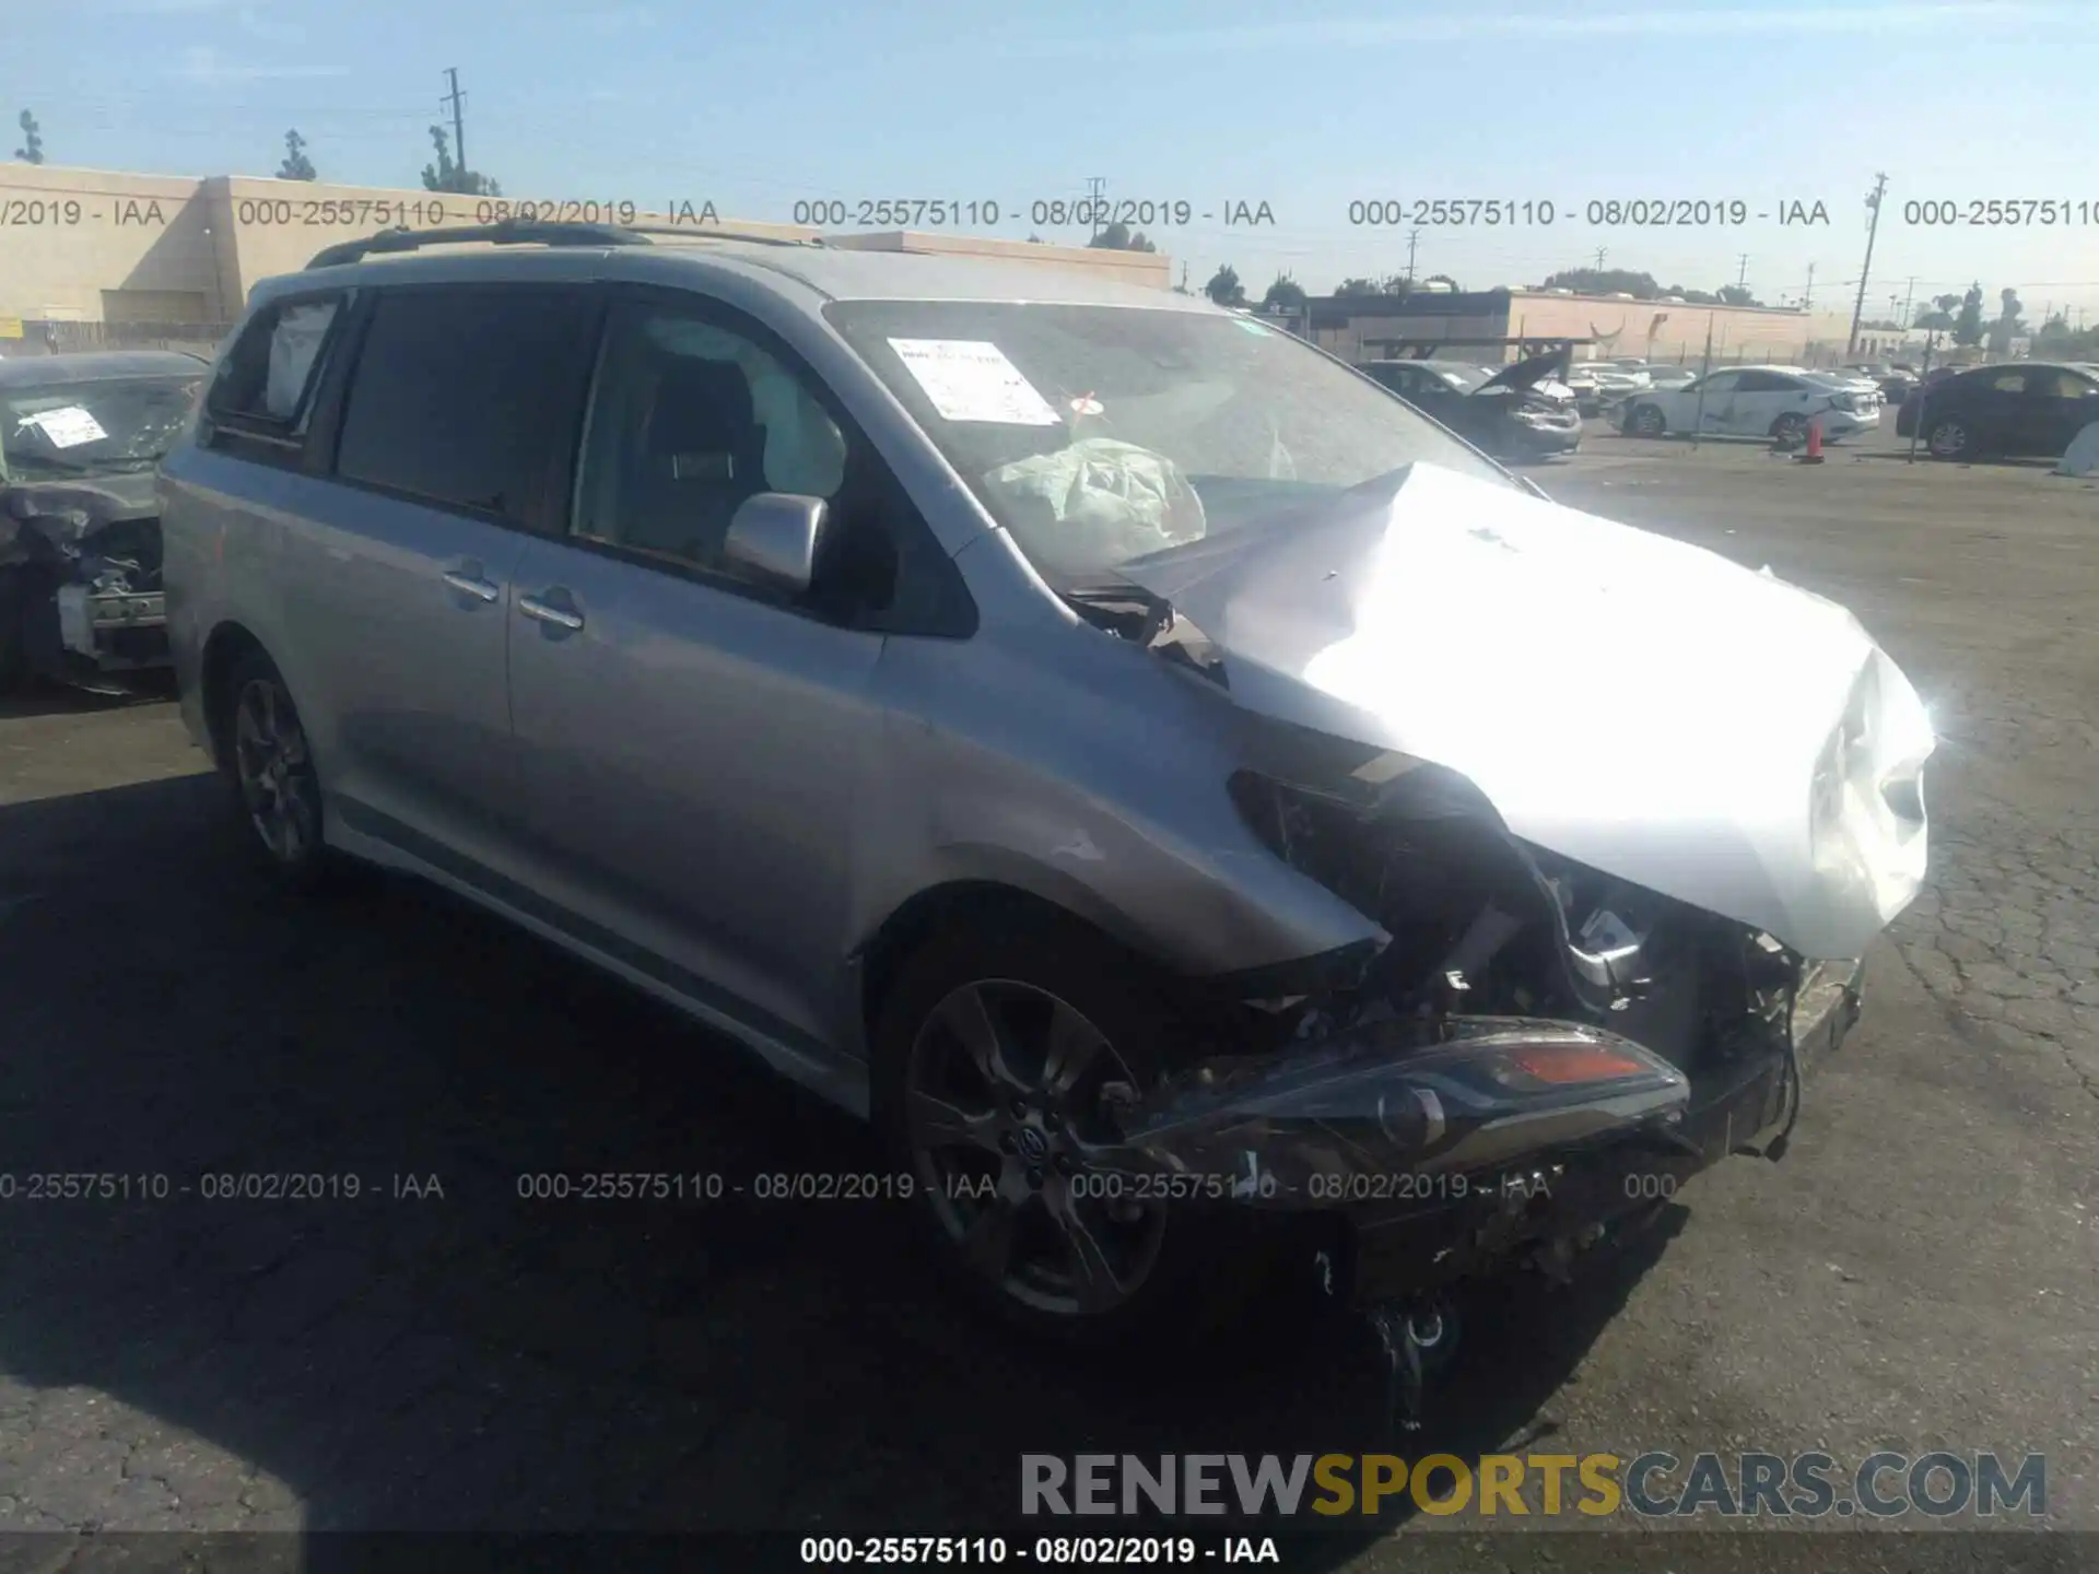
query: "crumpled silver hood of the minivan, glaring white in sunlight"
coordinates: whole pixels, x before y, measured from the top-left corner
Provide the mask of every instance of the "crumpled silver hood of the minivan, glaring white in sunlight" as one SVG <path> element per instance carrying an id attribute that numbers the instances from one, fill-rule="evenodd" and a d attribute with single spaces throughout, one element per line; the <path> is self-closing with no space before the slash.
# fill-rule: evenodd
<path id="1" fill-rule="evenodd" d="M 1916 690 L 1843 607 L 1715 552 L 1413 464 L 1123 573 L 1247 709 L 1459 770 L 1526 842 L 1807 957 L 1923 884 Z"/>

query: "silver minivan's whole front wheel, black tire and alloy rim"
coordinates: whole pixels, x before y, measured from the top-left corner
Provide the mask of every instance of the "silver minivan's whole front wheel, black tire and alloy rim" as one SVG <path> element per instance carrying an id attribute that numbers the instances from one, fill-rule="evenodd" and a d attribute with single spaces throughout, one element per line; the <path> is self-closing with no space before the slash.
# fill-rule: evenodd
<path id="1" fill-rule="evenodd" d="M 875 1024 L 873 1112 L 953 1289 L 1079 1347 L 1215 1324 L 1228 1301 L 1203 1291 L 1230 1219 L 1110 1190 L 1085 1158 L 1119 1104 L 1192 1058 L 1182 1035 L 1142 965 L 1077 921 L 1001 913 L 905 963 Z M 1230 1268 L 1259 1278 L 1245 1255 Z"/>

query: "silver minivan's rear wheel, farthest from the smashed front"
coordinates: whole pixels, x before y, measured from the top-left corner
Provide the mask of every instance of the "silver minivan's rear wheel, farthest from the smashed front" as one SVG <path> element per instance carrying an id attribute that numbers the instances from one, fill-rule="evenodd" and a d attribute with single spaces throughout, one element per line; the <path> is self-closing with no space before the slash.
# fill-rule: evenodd
<path id="1" fill-rule="evenodd" d="M 321 839 L 321 777 L 292 690 L 262 651 L 248 651 L 222 695 L 225 770 L 243 844 L 279 884 L 323 884 L 334 860 Z"/>

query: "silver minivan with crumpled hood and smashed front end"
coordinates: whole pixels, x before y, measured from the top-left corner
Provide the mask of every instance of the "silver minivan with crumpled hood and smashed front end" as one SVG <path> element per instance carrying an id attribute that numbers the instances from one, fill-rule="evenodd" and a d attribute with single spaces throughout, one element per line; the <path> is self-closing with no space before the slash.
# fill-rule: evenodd
<path id="1" fill-rule="evenodd" d="M 869 1112 L 1073 1339 L 1316 1265 L 1419 1370 L 1453 1282 L 1784 1148 L 1925 871 L 1843 609 L 1167 292 L 476 235 L 260 285 L 164 466 L 288 879 L 424 875 Z"/>

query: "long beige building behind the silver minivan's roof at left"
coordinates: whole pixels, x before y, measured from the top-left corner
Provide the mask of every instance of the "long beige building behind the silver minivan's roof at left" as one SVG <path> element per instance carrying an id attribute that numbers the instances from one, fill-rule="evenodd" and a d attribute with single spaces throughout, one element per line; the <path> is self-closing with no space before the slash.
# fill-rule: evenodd
<path id="1" fill-rule="evenodd" d="M 294 273 L 325 246 L 405 225 L 445 229 L 497 218 L 676 225 L 817 237 L 882 252 L 1020 258 L 1159 290 L 1159 252 L 1108 252 L 915 231 L 835 235 L 739 220 L 699 197 L 670 210 L 630 201 L 535 201 L 388 191 L 248 176 L 118 174 L 48 164 L 0 166 L 0 355 L 6 340 L 212 342 L 258 279 Z M 48 327 L 46 325 L 57 325 Z"/>

